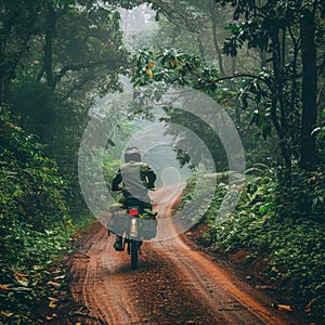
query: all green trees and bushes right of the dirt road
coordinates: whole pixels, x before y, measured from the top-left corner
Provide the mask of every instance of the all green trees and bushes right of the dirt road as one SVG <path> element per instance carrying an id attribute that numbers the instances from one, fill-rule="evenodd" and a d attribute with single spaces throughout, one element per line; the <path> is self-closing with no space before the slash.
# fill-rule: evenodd
<path id="1" fill-rule="evenodd" d="M 238 186 L 227 180 L 217 184 L 203 219 L 208 245 L 223 252 L 246 251 L 246 268 L 251 260 L 262 262 L 264 280 L 285 303 L 324 320 L 325 103 L 324 95 L 317 95 L 324 84 L 324 3 L 217 2 L 231 2 L 234 9 L 235 23 L 226 26 L 230 34 L 223 53 L 236 58 L 242 49 L 255 50 L 259 54 L 255 68 L 237 66 L 233 74 L 225 73 L 193 48 L 144 49 L 136 57 L 134 86 L 150 84 L 154 89 L 150 96 L 161 82 L 190 86 L 224 106 L 243 140 L 248 170 L 259 162 L 266 166 L 259 177 L 246 176 L 239 203 L 222 223 L 220 204 Z M 208 13 L 203 6 L 192 6 L 202 14 L 196 12 L 197 21 L 216 13 L 214 6 Z M 207 127 L 193 123 L 193 117 L 180 116 L 174 108 L 169 107 L 166 121 L 177 121 L 194 132 L 195 125 L 203 139 L 209 138 Z M 172 126 L 167 130 L 179 132 Z M 188 160 L 186 153 L 178 153 L 181 161 Z M 218 154 L 216 165 L 222 159 L 220 151 Z M 194 187 L 195 182 L 190 181 L 185 205 Z"/>

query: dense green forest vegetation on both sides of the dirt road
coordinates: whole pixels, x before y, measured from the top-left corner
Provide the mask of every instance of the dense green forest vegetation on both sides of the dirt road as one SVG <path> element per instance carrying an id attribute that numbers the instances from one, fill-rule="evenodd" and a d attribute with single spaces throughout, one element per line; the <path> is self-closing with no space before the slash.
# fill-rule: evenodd
<path id="1" fill-rule="evenodd" d="M 117 9 L 144 3 L 155 12 L 156 28 L 139 32 L 132 61 Z M 150 84 L 147 94 L 156 96 L 164 83 L 194 88 L 223 106 L 248 167 L 266 168 L 246 174 L 239 204 L 224 224 L 214 217 L 232 184 L 218 184 L 204 218 L 209 246 L 245 250 L 247 261 L 268 259 L 263 272 L 288 303 L 321 315 L 324 11 L 317 0 L 1 1 L 0 322 L 35 324 L 43 317 L 34 313 L 39 301 L 54 303 L 48 268 L 90 220 L 78 182 L 80 140 L 99 113 L 99 99 L 122 91 L 121 75 L 136 89 L 134 100 L 141 86 Z M 194 126 L 218 171 L 225 171 L 219 139 L 204 120 L 174 108 L 161 118 L 166 132 L 177 139 L 173 123 Z M 150 117 L 143 110 L 136 114 Z M 125 139 L 113 139 L 115 148 L 103 161 L 108 181 L 132 118 L 120 106 L 109 114 Z M 179 144 L 181 165 L 191 164 Z"/>

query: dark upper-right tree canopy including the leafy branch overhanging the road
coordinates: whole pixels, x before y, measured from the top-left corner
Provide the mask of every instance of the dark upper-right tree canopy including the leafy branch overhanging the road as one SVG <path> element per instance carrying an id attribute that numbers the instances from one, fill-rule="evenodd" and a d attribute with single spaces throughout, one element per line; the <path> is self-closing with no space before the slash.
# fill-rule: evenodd
<path id="1" fill-rule="evenodd" d="M 226 5 L 227 1 L 221 2 Z M 317 107 L 324 105 L 320 95 L 324 75 L 323 2 L 238 1 L 233 6 L 237 23 L 226 27 L 230 36 L 223 52 L 235 57 L 244 47 L 256 49 L 264 53 L 259 69 L 223 76 L 186 51 L 143 51 L 134 84 L 165 80 L 191 84 L 217 98 L 219 92 L 220 98 L 225 80 L 235 80 L 229 98 L 240 100 L 245 109 L 249 107 L 263 138 L 275 130 L 286 168 L 289 170 L 297 159 L 304 169 L 315 168 L 321 153 L 314 130 L 321 125 Z"/>

